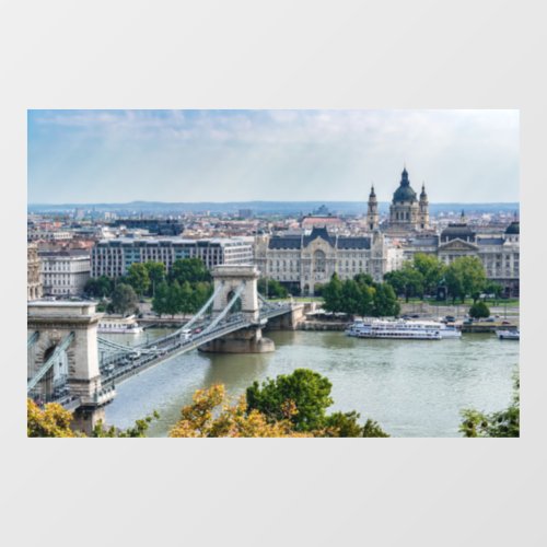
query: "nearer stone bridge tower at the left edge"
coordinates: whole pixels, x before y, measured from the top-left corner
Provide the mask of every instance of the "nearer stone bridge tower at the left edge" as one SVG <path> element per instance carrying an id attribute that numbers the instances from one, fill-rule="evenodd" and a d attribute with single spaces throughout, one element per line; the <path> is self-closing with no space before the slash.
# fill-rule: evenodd
<path id="1" fill-rule="evenodd" d="M 66 363 L 66 383 L 73 401 L 74 429 L 90 433 L 97 420 L 104 420 L 104 405 L 114 396 L 114 389 L 103 389 L 97 356 L 97 323 L 101 314 L 94 302 L 28 302 L 27 377 L 36 379 L 44 399 L 53 395 L 55 368 L 48 368 L 54 354 L 62 352 Z"/>

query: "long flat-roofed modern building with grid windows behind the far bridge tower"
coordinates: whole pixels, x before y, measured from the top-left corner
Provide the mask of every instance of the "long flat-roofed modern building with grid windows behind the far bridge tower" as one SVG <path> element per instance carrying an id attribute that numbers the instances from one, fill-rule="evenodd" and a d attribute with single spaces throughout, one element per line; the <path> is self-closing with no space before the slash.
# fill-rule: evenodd
<path id="1" fill-rule="evenodd" d="M 181 237 L 118 237 L 102 240 L 91 253 L 92 276 L 125 276 L 131 264 L 158 261 L 171 270 L 183 258 L 200 258 L 208 269 L 223 264 L 252 264 L 253 238 L 183 240 Z"/>

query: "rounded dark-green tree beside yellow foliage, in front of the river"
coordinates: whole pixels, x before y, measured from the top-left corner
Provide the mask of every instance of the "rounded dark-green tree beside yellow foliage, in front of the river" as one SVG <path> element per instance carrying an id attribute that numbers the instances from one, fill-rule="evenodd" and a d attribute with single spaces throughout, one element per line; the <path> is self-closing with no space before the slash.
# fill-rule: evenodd
<path id="1" fill-rule="evenodd" d="M 295 431 L 312 431 L 325 426 L 325 410 L 333 404 L 330 381 L 317 372 L 296 369 L 292 374 L 267 379 L 261 385 L 247 387 L 247 408 L 256 409 L 269 420 L 287 418 L 287 405 L 295 412 L 289 418 Z"/>

